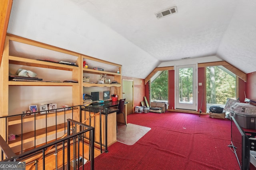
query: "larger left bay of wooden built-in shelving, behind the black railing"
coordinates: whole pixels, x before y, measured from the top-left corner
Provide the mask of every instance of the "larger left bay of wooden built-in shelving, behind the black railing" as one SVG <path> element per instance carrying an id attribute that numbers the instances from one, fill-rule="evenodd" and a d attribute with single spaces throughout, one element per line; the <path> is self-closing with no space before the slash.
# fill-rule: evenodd
<path id="1" fill-rule="evenodd" d="M 18 47 L 18 50 L 16 49 L 16 45 L 21 45 L 21 48 Z M 19 50 L 23 50 L 20 52 Z M 25 50 L 24 50 L 25 49 Z M 42 50 L 42 51 L 40 51 Z M 51 56 L 53 54 L 53 56 Z M 40 57 L 41 55 L 45 57 Z M 67 64 L 60 64 L 60 63 L 54 63 L 54 62 L 49 62 L 49 61 L 61 61 L 62 60 L 62 55 L 63 56 L 71 56 L 73 60 L 76 60 L 75 62 L 77 63 L 77 66 L 72 66 L 72 65 L 67 65 Z M 56 59 L 54 59 L 56 57 Z M 46 61 L 42 61 L 46 59 Z M 17 110 L 14 113 L 10 111 L 9 105 L 11 104 L 12 106 L 14 105 L 14 101 L 8 100 L 10 96 L 17 95 L 17 101 L 20 101 L 22 103 L 22 100 L 29 100 L 29 98 L 23 97 L 21 94 L 13 94 L 12 90 L 20 91 L 24 87 L 31 88 L 32 93 L 36 93 L 36 90 L 44 90 L 47 87 L 54 87 L 55 88 L 62 88 L 62 87 L 69 87 L 69 89 L 72 92 L 68 92 L 68 97 L 70 97 L 70 94 L 72 97 L 70 98 L 70 105 L 71 106 L 78 106 L 81 104 L 82 99 L 80 98 L 81 94 L 81 74 L 82 74 L 82 68 L 80 64 L 80 55 L 77 53 L 73 53 L 68 50 L 60 49 L 58 47 L 53 47 L 50 45 L 46 45 L 43 43 L 39 43 L 36 41 L 32 41 L 29 39 L 25 39 L 22 37 L 18 37 L 15 35 L 8 35 L 6 36 L 6 42 L 5 42 L 5 47 L 4 47 L 4 53 L 3 53 L 3 60 L 1 64 L 1 69 L 0 69 L 0 77 L 1 77 L 1 87 L 0 87 L 0 94 L 2 96 L 5 96 L 4 98 L 1 98 L 0 102 L 3 104 L 2 107 L 0 108 L 0 117 L 1 116 L 6 116 L 6 115 L 14 115 L 17 113 L 22 113 L 24 109 L 21 109 L 20 111 Z M 43 77 L 43 81 L 13 81 L 9 80 L 9 72 L 10 72 L 10 66 L 12 68 L 17 67 L 17 68 L 24 68 L 24 69 L 29 69 L 31 68 L 32 70 L 38 70 L 38 72 L 44 72 L 44 74 L 40 74 Z M 49 71 L 49 69 L 51 71 Z M 55 72 L 56 70 L 56 72 Z M 58 71 L 60 70 L 60 71 Z M 52 72 L 54 72 L 54 77 L 56 80 L 59 80 L 58 75 L 60 74 L 66 74 L 68 73 L 68 80 L 74 80 L 77 81 L 75 82 L 56 82 L 56 81 L 47 81 L 47 78 L 51 77 Z M 65 77 L 65 75 L 60 75 L 60 79 Z M 44 79 L 46 78 L 46 81 Z M 14 88 L 11 88 L 14 87 Z M 34 87 L 36 87 L 36 90 L 33 90 Z M 26 90 L 28 89 L 26 88 Z M 10 90 L 12 89 L 12 90 Z M 54 91 L 52 91 L 54 93 Z M 52 93 L 49 91 L 49 93 Z M 48 92 L 47 92 L 48 93 Z M 46 94 L 47 95 L 47 94 Z M 62 96 L 65 95 L 65 92 Z M 35 95 L 34 95 L 35 96 Z M 56 94 L 55 99 L 58 101 L 58 94 Z M 13 97 L 12 97 L 13 98 Z M 62 97 L 63 98 L 63 97 Z M 61 99 L 61 98 L 60 98 Z M 38 111 L 40 111 L 39 104 L 41 104 L 42 100 L 38 98 L 38 102 L 36 101 L 36 98 L 31 99 L 31 105 L 32 103 L 38 103 Z M 15 102 L 17 102 L 15 101 Z M 47 100 L 46 100 L 47 101 Z M 28 106 L 27 106 L 28 107 Z M 28 109 L 26 109 L 28 110 Z M 58 123 L 57 125 L 52 125 L 55 123 L 56 119 L 62 120 L 62 117 L 64 117 L 64 114 L 70 114 L 72 113 L 72 110 L 66 110 L 66 111 L 58 111 L 56 113 L 47 113 L 47 121 L 52 121 L 51 123 L 48 122 L 48 126 L 40 125 L 40 129 L 36 129 L 36 127 L 30 127 L 31 123 L 36 124 L 37 121 L 45 121 L 46 119 L 46 114 L 35 114 L 35 115 L 29 115 L 29 116 L 14 116 L 14 117 L 9 117 L 7 121 L 4 119 L 0 120 L 1 124 L 1 130 L 0 134 L 2 137 L 6 137 L 9 135 L 9 131 L 15 132 L 15 128 L 17 129 L 17 133 L 21 132 L 21 125 L 26 131 L 21 135 L 21 134 L 15 134 L 18 135 L 18 137 L 14 141 L 8 141 L 8 144 L 10 147 L 16 147 L 17 145 L 21 144 L 26 144 L 34 141 L 35 139 L 40 141 L 44 141 L 44 138 L 48 137 L 49 135 L 53 135 L 59 132 L 64 131 L 66 128 L 66 120 L 63 118 L 63 121 L 61 123 Z M 73 109 L 73 117 L 76 120 L 79 120 L 79 113 L 80 109 Z M 51 119 L 52 117 L 52 119 Z M 56 118 L 55 118 L 56 117 Z M 6 124 L 7 123 L 7 124 Z M 44 124 L 44 123 L 42 123 Z M 46 124 L 45 124 L 46 125 Z M 14 129 L 13 129 L 14 128 Z M 28 131 L 28 129 L 33 129 L 31 131 Z M 36 129 L 36 130 L 34 130 Z M 46 130 L 47 129 L 47 130 Z M 20 132 L 19 132 L 20 131 Z M 47 133 L 46 133 L 47 131 Z M 36 136 L 35 136 L 36 134 Z M 21 141 L 21 136 L 22 136 L 22 141 Z M 48 139 L 47 140 L 52 140 Z M 45 141 L 44 141 L 45 142 Z M 40 145 L 40 144 L 39 144 Z M 32 146 L 31 146 L 32 147 Z M 15 150 L 16 152 L 17 150 Z"/>

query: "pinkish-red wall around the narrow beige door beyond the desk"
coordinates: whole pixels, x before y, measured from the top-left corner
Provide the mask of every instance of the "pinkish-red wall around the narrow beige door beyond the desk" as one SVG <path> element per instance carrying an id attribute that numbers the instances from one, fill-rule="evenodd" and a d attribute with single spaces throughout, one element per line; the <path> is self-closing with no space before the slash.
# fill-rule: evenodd
<path id="1" fill-rule="evenodd" d="M 122 76 L 122 79 L 133 80 L 134 107 L 135 106 L 141 106 L 140 102 L 144 100 L 145 89 L 146 89 L 144 79 L 127 77 L 127 76 Z"/>

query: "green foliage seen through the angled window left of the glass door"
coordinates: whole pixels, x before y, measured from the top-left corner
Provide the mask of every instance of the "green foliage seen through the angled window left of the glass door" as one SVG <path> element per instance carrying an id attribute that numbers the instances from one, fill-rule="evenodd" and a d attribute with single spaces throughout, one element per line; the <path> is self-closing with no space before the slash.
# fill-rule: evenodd
<path id="1" fill-rule="evenodd" d="M 151 82 L 151 100 L 168 100 L 168 70 Z"/>

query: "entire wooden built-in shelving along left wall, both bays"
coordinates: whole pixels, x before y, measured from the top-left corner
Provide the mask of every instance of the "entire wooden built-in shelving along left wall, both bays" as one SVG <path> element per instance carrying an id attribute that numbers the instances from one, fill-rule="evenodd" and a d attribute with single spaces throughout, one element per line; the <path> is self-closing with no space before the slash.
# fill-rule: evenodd
<path id="1" fill-rule="evenodd" d="M 20 48 L 23 50 L 15 51 L 15 45 L 22 45 Z M 23 46 L 24 45 L 24 46 Z M 14 51 L 13 51 L 14 49 Z M 36 50 L 35 50 L 36 49 Z M 40 53 L 39 50 L 47 51 L 46 53 Z M 32 52 L 30 52 L 32 51 Z M 72 59 L 75 59 L 76 66 L 72 65 L 66 65 L 66 64 L 60 64 L 60 63 L 53 63 L 48 62 L 51 59 L 54 61 L 61 61 L 69 59 L 68 57 L 71 57 Z M 47 59 L 47 61 L 42 61 L 44 59 Z M 48 60 L 48 58 L 50 60 Z M 92 68 L 83 68 L 83 61 L 89 62 L 89 63 L 97 63 L 98 66 L 105 66 L 106 71 L 100 71 L 100 70 L 94 70 Z M 93 64 L 91 64 L 92 66 Z M 45 77 L 49 78 L 51 76 L 51 73 L 49 70 L 52 70 L 52 72 L 68 72 L 69 76 L 71 75 L 70 79 L 68 80 L 75 80 L 77 83 L 73 82 L 50 82 L 50 81 L 37 81 L 37 82 L 28 82 L 28 81 L 13 81 L 9 80 L 9 74 L 10 74 L 10 68 L 11 67 L 22 67 L 22 68 L 32 68 L 33 70 L 43 70 L 43 72 L 46 72 L 45 74 L 42 74 Z M 110 69 L 111 68 L 111 69 Z M 21 88 L 26 87 L 27 88 L 36 88 L 36 90 L 40 89 L 46 89 L 46 88 L 68 88 L 69 93 L 72 94 L 72 97 L 70 98 L 70 101 L 72 103 L 72 106 L 78 106 L 83 104 L 83 88 L 91 88 L 91 87 L 99 87 L 99 88 L 114 88 L 114 93 L 118 94 L 118 96 L 122 96 L 122 76 L 121 76 L 121 68 L 122 66 L 119 64 L 111 63 L 108 61 L 103 61 L 100 59 L 96 59 L 94 57 L 82 55 L 79 53 L 75 53 L 72 51 L 68 51 L 65 49 L 61 49 L 58 47 L 54 47 L 51 45 L 47 45 L 44 43 L 36 42 L 30 39 L 25 39 L 23 37 L 18 37 L 16 35 L 7 35 L 5 46 L 4 46 L 4 53 L 2 57 L 2 63 L 0 67 L 0 96 L 4 96 L 3 98 L 0 98 L 1 105 L 0 106 L 0 117 L 6 116 L 6 115 L 14 115 L 18 113 L 22 113 L 24 109 L 10 111 L 10 106 L 14 105 L 14 102 L 20 102 L 22 103 L 23 100 L 29 101 L 32 100 L 31 103 L 36 103 L 37 99 L 30 99 L 30 98 L 24 98 L 22 94 L 13 94 L 12 90 L 14 88 L 17 88 L 18 90 Z M 116 70 L 119 69 L 120 73 L 117 73 Z M 56 74 L 62 74 L 60 76 L 65 77 L 65 73 L 56 73 Z M 54 74 L 54 75 L 56 75 Z M 115 80 L 118 83 L 117 84 L 96 84 L 96 83 L 84 83 L 83 82 L 83 76 L 86 76 L 86 74 L 92 74 L 92 75 L 100 75 L 104 74 L 111 77 L 111 80 Z M 41 78 L 41 77 L 39 77 Z M 56 78 L 58 80 L 58 77 Z M 15 89 L 16 90 L 16 89 Z M 36 93 L 35 90 L 31 90 L 32 93 Z M 65 92 L 65 91 L 64 91 Z M 21 93 L 21 92 L 20 92 Z M 49 93 L 55 93 L 54 90 Z M 17 95 L 17 100 L 13 101 L 10 100 L 10 98 L 14 98 L 13 96 Z M 38 96 L 39 97 L 39 96 Z M 41 96 L 40 96 L 41 97 Z M 54 95 L 56 100 L 58 100 L 58 94 Z M 62 97 L 63 98 L 63 97 Z M 60 99 L 62 99 L 60 97 Z M 39 98 L 38 98 L 39 100 Z M 48 99 L 46 98 L 45 101 Z M 38 102 L 40 103 L 40 102 Z M 12 108 L 12 107 L 11 107 Z M 39 110 L 39 108 L 38 108 Z M 57 113 L 47 113 L 47 118 L 52 117 L 51 121 L 55 121 L 55 116 L 63 116 L 64 114 L 70 114 L 72 113 L 72 110 L 66 110 L 60 111 Z M 79 120 L 79 113 L 80 109 L 73 109 L 74 113 L 74 119 L 76 121 Z M 20 126 L 21 124 L 26 127 L 26 129 L 29 129 L 29 125 L 31 122 L 35 123 L 36 121 L 44 121 L 46 119 L 45 114 L 36 114 L 36 115 L 29 115 L 29 116 L 13 116 L 9 117 L 7 120 L 0 119 L 0 135 L 6 139 L 6 136 L 9 135 L 9 131 L 13 129 L 11 128 L 17 128 L 17 126 Z M 64 131 L 66 127 L 66 121 L 63 120 L 62 123 L 59 123 L 58 125 L 54 126 L 47 126 L 43 127 L 41 129 L 26 131 L 26 133 L 22 134 L 22 141 L 21 141 L 21 134 L 15 134 L 18 135 L 16 140 L 14 141 L 8 141 L 8 144 L 10 147 L 16 147 L 17 145 L 21 145 L 24 143 L 31 143 L 35 139 L 41 139 L 45 138 L 46 136 L 53 135 L 57 132 Z M 57 127 L 57 130 L 56 130 Z M 32 129 L 32 128 L 31 128 Z M 47 129 L 47 133 L 46 133 Z M 20 130 L 20 129 L 19 129 Z M 7 135 L 6 135 L 7 134 Z M 34 136 L 36 134 L 36 137 Z M 54 139 L 47 139 L 47 140 L 54 140 Z M 45 142 L 45 141 L 44 141 Z M 38 144 L 40 145 L 40 144 Z"/>

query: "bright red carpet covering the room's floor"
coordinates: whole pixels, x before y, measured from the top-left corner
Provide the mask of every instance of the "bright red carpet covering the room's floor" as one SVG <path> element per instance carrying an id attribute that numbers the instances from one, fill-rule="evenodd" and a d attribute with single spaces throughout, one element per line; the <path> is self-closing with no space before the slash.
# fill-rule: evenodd
<path id="1" fill-rule="evenodd" d="M 229 119 L 174 112 L 132 113 L 127 119 L 151 130 L 132 146 L 116 142 L 108 147 L 108 153 L 95 158 L 95 170 L 240 169 L 227 147 Z"/>

